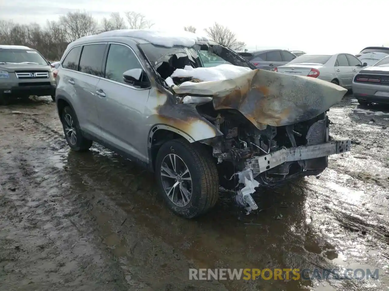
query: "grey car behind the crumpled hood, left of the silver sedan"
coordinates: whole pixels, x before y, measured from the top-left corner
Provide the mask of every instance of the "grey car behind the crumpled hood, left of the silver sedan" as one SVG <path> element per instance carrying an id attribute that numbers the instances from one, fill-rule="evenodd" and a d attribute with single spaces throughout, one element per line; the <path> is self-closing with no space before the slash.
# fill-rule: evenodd
<path id="1" fill-rule="evenodd" d="M 288 50 L 255 50 L 248 52 L 238 52 L 242 57 L 249 60 L 258 69 L 273 71 L 277 66 L 287 64 L 296 58 Z"/>

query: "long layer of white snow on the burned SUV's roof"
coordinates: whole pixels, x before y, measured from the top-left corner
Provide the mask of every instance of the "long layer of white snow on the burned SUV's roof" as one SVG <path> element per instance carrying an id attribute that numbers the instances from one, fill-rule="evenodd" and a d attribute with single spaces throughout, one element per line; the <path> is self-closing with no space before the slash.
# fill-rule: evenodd
<path id="1" fill-rule="evenodd" d="M 175 45 L 183 47 L 193 47 L 196 42 L 207 42 L 208 38 L 189 31 L 158 31 L 152 29 L 117 29 L 105 31 L 97 35 L 84 36 L 78 40 L 85 40 L 90 37 L 128 36 L 145 40 L 153 45 L 163 47 L 173 47 Z M 78 41 L 77 40 L 77 41 Z"/>

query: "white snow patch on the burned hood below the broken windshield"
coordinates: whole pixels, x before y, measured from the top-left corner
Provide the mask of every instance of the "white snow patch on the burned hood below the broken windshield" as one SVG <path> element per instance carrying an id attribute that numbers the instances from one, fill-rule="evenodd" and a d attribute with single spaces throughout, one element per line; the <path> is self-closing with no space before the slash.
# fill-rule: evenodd
<path id="1" fill-rule="evenodd" d="M 192 68 L 191 66 L 185 66 L 184 69 L 175 69 L 171 77 L 192 77 L 203 82 L 219 81 L 233 79 L 249 71 L 252 70 L 250 68 L 234 66 L 231 64 L 221 64 L 210 68 Z M 181 85 L 184 85 L 184 83 Z"/>

